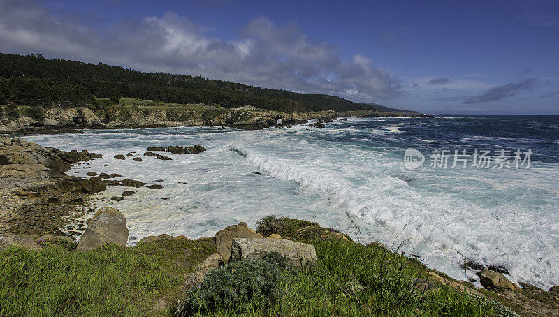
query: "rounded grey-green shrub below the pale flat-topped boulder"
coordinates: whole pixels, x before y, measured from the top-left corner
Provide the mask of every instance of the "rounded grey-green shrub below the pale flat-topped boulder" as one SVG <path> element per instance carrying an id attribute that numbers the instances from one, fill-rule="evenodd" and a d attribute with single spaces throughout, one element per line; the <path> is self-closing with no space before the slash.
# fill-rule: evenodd
<path id="1" fill-rule="evenodd" d="M 219 267 L 187 295 L 178 316 L 228 309 L 268 309 L 277 301 L 280 272 L 262 260 L 243 259 Z"/>

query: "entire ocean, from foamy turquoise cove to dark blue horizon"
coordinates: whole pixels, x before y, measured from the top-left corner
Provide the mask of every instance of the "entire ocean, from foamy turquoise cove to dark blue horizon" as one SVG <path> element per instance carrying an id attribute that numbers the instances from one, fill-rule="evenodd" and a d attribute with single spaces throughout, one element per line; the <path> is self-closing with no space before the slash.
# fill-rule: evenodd
<path id="1" fill-rule="evenodd" d="M 103 154 L 68 174 L 119 173 L 164 186 L 140 188 L 120 202 L 101 200 L 119 196 L 120 186 L 96 194 L 95 207 L 126 216 L 129 245 L 161 233 L 212 236 L 240 221 L 255 228 L 275 214 L 381 242 L 456 279 L 475 278 L 460 267 L 473 261 L 507 267 L 513 281 L 559 285 L 558 116 L 348 118 L 320 129 L 147 128 L 26 138 Z M 194 144 L 208 151 L 165 154 L 172 161 L 143 156 L 147 146 Z M 423 154 L 423 164 L 406 168 L 406 149 Z M 128 152 L 143 162 L 112 158 Z"/>

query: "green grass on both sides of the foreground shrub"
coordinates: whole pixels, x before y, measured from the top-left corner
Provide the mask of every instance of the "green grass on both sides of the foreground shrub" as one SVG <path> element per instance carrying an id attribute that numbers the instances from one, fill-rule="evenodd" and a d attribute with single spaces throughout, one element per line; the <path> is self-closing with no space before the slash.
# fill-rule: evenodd
<path id="1" fill-rule="evenodd" d="M 201 315 L 498 316 L 502 309 L 453 288 L 424 293 L 413 281 L 428 270 L 418 260 L 334 239 L 339 232 L 316 223 L 268 217 L 259 232 L 314 244 L 318 265 L 284 272 L 280 300 L 268 311 L 228 307 Z M 168 316 L 169 304 L 185 296 L 184 274 L 214 252 L 209 239 L 106 246 L 89 253 L 11 247 L 0 253 L 0 316 Z"/>

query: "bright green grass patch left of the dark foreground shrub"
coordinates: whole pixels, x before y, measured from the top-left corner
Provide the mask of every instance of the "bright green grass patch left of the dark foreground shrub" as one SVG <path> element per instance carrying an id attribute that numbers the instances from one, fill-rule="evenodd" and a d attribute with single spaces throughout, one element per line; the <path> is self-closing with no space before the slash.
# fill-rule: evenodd
<path id="1" fill-rule="evenodd" d="M 11 246 L 0 253 L 0 316 L 168 315 L 184 297 L 184 275 L 212 253 L 209 239 L 84 253 Z"/>

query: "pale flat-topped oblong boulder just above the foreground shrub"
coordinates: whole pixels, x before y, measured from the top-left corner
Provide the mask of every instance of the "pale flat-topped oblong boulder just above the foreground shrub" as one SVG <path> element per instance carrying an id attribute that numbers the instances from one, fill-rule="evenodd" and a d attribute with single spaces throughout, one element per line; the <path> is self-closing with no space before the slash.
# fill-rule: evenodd
<path id="1" fill-rule="evenodd" d="M 277 252 L 286 262 L 293 265 L 314 265 L 317 253 L 312 244 L 293 242 L 286 239 L 234 238 L 229 262 L 243 258 L 261 259 L 268 253 Z"/>

